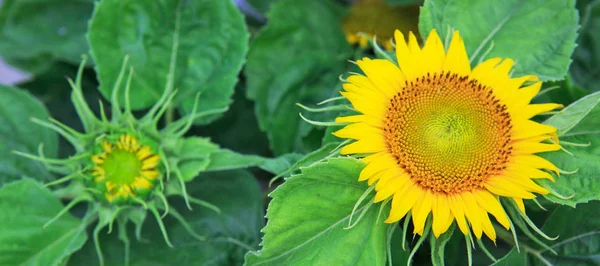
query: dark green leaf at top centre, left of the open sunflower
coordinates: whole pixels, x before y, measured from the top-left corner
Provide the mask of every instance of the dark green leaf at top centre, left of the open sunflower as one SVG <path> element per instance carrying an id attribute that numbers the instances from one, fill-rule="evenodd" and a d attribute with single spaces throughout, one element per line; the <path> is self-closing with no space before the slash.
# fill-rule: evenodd
<path id="1" fill-rule="evenodd" d="M 256 102 L 260 127 L 275 154 L 320 146 L 322 131 L 302 121 L 295 104 L 337 96 L 338 76 L 351 55 L 341 29 L 343 15 L 344 9 L 331 0 L 278 1 L 250 45 L 247 94 Z M 323 114 L 309 118 L 332 119 Z"/>

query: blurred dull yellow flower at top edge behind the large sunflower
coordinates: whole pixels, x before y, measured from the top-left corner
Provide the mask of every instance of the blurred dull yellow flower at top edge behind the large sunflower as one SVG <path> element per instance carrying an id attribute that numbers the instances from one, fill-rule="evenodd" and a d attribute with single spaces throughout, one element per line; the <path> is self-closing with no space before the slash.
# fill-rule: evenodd
<path id="1" fill-rule="evenodd" d="M 357 0 L 350 6 L 350 12 L 342 21 L 342 28 L 350 44 L 367 47 L 370 38 L 377 37 L 377 43 L 386 50 L 393 49 L 390 42 L 394 30 L 417 31 L 418 6 L 391 7 L 384 0 Z"/>

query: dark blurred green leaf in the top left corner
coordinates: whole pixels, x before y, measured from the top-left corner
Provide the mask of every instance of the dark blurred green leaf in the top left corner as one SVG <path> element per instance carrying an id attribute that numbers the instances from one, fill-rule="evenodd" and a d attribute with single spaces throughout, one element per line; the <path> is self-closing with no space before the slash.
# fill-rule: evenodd
<path id="1" fill-rule="evenodd" d="M 34 72 L 54 58 L 79 64 L 88 53 L 85 32 L 92 9 L 90 0 L 6 0 L 0 10 L 0 54 Z"/>

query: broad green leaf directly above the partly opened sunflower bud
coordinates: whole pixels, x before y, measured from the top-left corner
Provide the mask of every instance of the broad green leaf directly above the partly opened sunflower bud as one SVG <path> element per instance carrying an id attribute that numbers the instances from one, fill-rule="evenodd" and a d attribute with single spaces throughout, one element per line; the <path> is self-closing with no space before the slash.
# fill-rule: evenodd
<path id="1" fill-rule="evenodd" d="M 248 48 L 243 17 L 232 1 L 105 0 L 96 5 L 88 37 L 105 96 L 129 55 L 135 69 L 132 108 L 155 103 L 170 81 L 184 113 L 192 110 L 198 93 L 199 111 L 230 104 Z"/>

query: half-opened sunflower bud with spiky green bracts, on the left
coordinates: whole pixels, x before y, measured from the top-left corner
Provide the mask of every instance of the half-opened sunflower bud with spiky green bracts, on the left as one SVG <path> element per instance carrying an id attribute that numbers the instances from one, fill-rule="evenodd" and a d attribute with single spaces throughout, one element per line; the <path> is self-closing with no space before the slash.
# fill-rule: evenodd
<path id="1" fill-rule="evenodd" d="M 125 243 L 125 254 L 127 254 L 129 240 L 124 231 L 127 223 L 133 222 L 137 227 L 136 230 L 140 232 L 148 213 L 156 219 L 165 242 L 170 247 L 172 244 L 162 222 L 162 218 L 166 215 L 171 215 L 182 223 L 194 238 L 204 240 L 204 237 L 191 229 L 177 210 L 170 207 L 167 196 L 181 196 L 190 210 L 192 209 L 190 203 L 195 203 L 219 212 L 216 206 L 193 198 L 186 192 L 185 182 L 202 170 L 191 165 L 195 162 L 202 165 L 203 161 L 190 158 L 186 145 L 195 140 L 185 138 L 184 134 L 197 118 L 222 112 L 222 110 L 197 113 L 199 98 L 196 97 L 190 114 L 179 120 L 169 121 L 164 127 L 159 128 L 163 114 L 167 109 L 172 108 L 170 103 L 175 95 L 172 82 L 167 82 L 163 95 L 155 105 L 143 116 L 134 116 L 129 103 L 133 69 L 129 69 L 129 76 L 124 82 L 127 61 L 128 57 L 124 59 L 118 80 L 114 84 L 110 119 L 105 113 L 102 102 L 100 102 L 100 115 L 97 116 L 84 100 L 81 88 L 84 58 L 77 79 L 69 80 L 73 89 L 71 99 L 84 131 L 78 132 L 54 119 L 50 119 L 49 122 L 33 120 L 59 133 L 74 147 L 74 155 L 65 159 L 46 158 L 42 145 L 38 155 L 15 152 L 41 161 L 50 171 L 64 175 L 46 186 L 59 186 L 60 188 L 56 190 L 57 195 L 72 200 L 45 226 L 56 221 L 78 203 L 88 203 L 84 219 L 98 220 L 93 239 L 100 265 L 103 265 L 103 255 L 98 240 L 101 230 L 108 226 L 110 232 L 116 221 L 119 230 L 122 230 L 119 232 L 119 238 Z M 173 77 L 172 74 L 169 76 Z M 123 83 L 125 83 L 125 104 L 122 107 L 119 95 Z M 183 166 L 183 163 L 187 163 L 187 166 Z M 159 212 L 162 212 L 162 215 Z M 137 237 L 139 239 L 140 236 Z M 126 257 L 125 260 L 127 265 L 128 258 Z"/>

